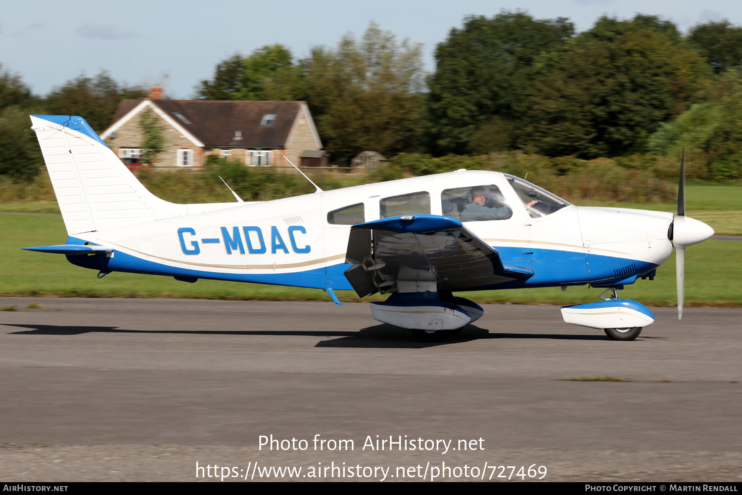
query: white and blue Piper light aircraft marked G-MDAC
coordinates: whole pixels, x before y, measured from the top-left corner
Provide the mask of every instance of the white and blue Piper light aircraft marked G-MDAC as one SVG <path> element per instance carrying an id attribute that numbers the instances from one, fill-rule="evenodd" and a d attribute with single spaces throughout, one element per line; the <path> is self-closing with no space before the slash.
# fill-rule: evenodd
<path id="1" fill-rule="evenodd" d="M 678 317 L 686 246 L 714 231 L 685 216 L 577 207 L 506 173 L 456 170 L 266 202 L 176 205 L 154 196 L 84 119 L 31 116 L 68 231 L 61 253 L 99 270 L 335 290 L 372 302 L 380 322 L 435 342 L 483 310 L 462 290 L 605 289 L 562 308 L 565 322 L 633 340 L 654 322 L 617 290 L 652 279 L 677 250 Z M 300 170 L 301 172 L 301 170 Z M 316 186 L 315 186 L 316 187 Z M 605 297 L 608 293 L 609 296 Z"/>

